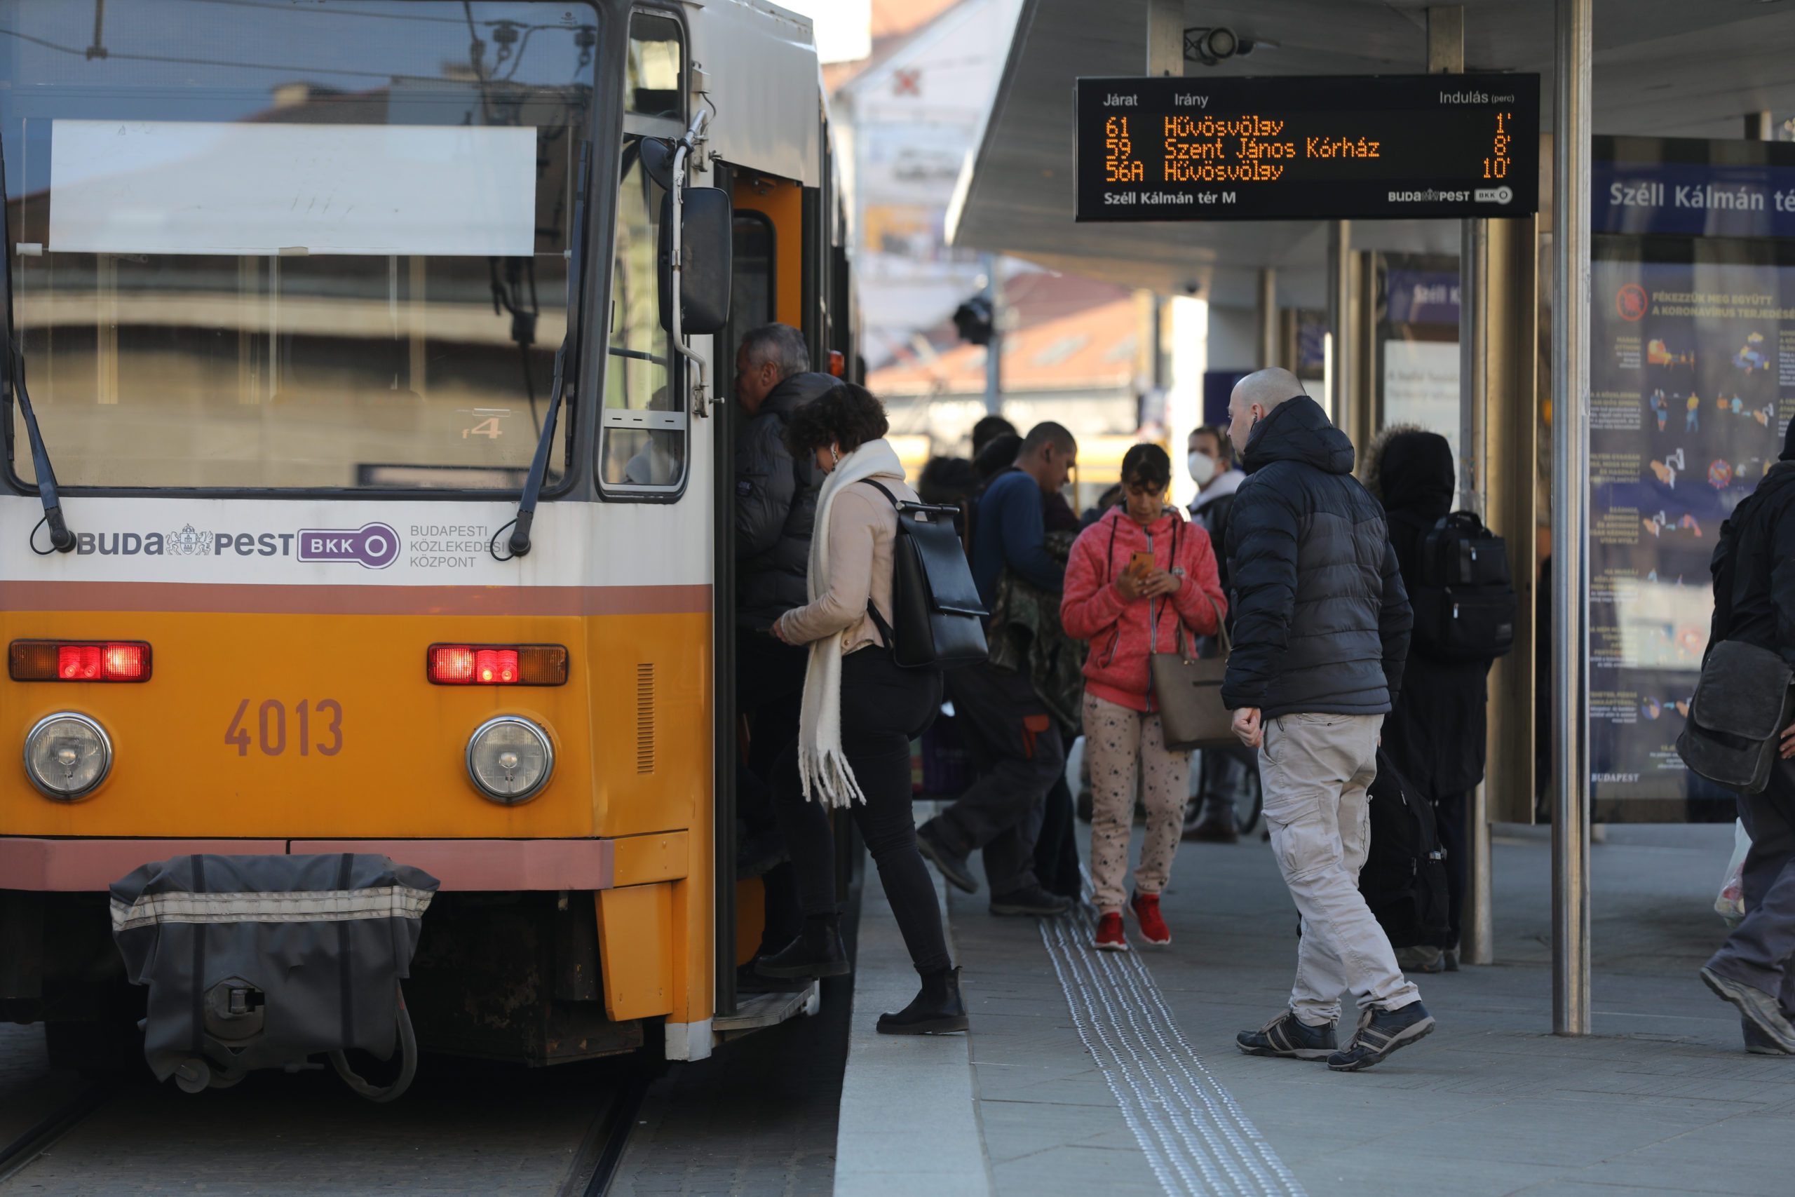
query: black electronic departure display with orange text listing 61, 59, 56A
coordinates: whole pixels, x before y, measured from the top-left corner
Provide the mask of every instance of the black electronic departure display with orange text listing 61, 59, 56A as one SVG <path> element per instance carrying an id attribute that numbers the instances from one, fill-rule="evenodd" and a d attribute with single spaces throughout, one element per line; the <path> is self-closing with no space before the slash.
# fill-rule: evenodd
<path id="1" fill-rule="evenodd" d="M 1079 221 L 1529 215 L 1538 75 L 1079 79 Z"/>

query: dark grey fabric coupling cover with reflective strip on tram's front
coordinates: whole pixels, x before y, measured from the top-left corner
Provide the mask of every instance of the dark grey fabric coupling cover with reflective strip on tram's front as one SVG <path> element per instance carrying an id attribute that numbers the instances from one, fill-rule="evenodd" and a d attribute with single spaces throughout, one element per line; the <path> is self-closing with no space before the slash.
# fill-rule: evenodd
<path id="1" fill-rule="evenodd" d="M 144 1057 L 196 1093 L 330 1053 L 363 1097 L 411 1080 L 409 974 L 436 878 L 386 856 L 174 856 L 111 885 L 111 926 L 149 987 Z M 404 1053 L 400 1082 L 361 1080 L 343 1053 Z"/>

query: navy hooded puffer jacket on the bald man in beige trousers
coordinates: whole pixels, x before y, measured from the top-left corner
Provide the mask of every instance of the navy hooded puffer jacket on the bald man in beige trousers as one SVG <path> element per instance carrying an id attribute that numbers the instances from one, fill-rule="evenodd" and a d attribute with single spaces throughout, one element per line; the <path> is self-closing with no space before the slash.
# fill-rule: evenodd
<path id="1" fill-rule="evenodd" d="M 1298 395 L 1255 425 L 1244 458 L 1222 702 L 1267 720 L 1389 711 L 1414 616 L 1384 508 L 1352 476 L 1352 441 Z"/>

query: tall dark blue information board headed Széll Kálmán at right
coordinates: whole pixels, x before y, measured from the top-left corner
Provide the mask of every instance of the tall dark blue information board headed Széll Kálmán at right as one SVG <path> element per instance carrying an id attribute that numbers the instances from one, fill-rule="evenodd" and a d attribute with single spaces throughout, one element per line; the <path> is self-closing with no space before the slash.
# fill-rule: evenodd
<path id="1" fill-rule="evenodd" d="M 1732 818 L 1677 756 L 1721 522 L 1795 413 L 1795 147 L 1596 138 L 1589 768 L 1599 818 Z"/>

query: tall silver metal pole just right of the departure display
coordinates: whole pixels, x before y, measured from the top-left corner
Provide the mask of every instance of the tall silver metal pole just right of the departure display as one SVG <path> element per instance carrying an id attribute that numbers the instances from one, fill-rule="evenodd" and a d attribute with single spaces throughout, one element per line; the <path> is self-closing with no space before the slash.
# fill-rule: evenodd
<path id="1" fill-rule="evenodd" d="M 1553 111 L 1553 1034 L 1589 1034 L 1589 127 L 1594 0 L 1558 0 Z"/>

